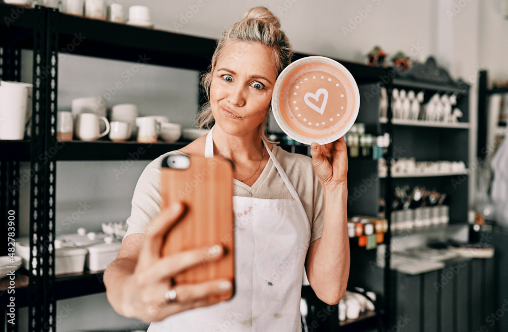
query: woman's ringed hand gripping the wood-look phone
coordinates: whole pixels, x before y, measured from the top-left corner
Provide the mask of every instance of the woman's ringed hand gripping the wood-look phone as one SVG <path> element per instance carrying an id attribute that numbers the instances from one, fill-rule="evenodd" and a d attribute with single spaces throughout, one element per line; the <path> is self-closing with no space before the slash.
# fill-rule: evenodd
<path id="1" fill-rule="evenodd" d="M 171 278 L 190 267 L 224 255 L 220 245 L 162 256 L 164 239 L 185 213 L 181 203 L 174 204 L 147 225 L 134 273 L 122 285 L 122 314 L 145 322 L 160 321 L 172 314 L 217 303 L 213 295 L 232 291 L 229 280 L 213 280 L 198 284 L 176 285 L 176 300 L 169 303 L 166 292 Z"/>

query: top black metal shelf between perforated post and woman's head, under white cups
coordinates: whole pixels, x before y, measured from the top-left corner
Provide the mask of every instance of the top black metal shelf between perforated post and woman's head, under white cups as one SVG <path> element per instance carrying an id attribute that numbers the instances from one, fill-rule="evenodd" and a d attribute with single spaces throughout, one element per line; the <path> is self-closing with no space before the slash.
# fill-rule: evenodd
<path id="1" fill-rule="evenodd" d="M 214 39 L 58 13 L 59 49 L 72 54 L 206 70 Z M 144 60 L 143 60 L 144 59 Z"/>

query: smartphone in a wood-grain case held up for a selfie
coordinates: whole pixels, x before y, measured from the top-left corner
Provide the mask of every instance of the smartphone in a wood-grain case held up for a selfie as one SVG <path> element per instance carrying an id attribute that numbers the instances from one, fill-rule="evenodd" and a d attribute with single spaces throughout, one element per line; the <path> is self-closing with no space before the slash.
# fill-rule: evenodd
<path id="1" fill-rule="evenodd" d="M 169 155 L 162 161 L 161 209 L 182 202 L 186 212 L 168 233 L 162 254 L 220 244 L 225 255 L 174 276 L 175 284 L 193 284 L 213 279 L 228 279 L 234 285 L 233 166 L 218 157 Z M 233 287 L 234 289 L 234 287 Z M 225 301 L 224 294 L 214 300 Z"/>

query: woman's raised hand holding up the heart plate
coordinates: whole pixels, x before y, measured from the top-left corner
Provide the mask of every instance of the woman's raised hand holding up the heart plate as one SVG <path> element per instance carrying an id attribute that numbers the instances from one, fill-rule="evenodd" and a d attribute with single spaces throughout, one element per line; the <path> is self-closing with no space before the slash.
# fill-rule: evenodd
<path id="1" fill-rule="evenodd" d="M 347 149 L 344 137 L 325 145 L 310 145 L 312 164 L 323 190 L 333 190 L 346 183 Z"/>

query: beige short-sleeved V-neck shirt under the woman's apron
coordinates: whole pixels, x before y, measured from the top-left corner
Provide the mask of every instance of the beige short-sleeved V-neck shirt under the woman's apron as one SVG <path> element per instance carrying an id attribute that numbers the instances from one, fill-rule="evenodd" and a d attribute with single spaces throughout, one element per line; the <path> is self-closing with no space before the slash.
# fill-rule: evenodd
<path id="1" fill-rule="evenodd" d="M 314 172 L 312 159 L 287 152 L 276 145 L 273 146 L 272 153 L 288 175 L 307 213 L 311 226 L 310 242 L 319 239 L 323 230 L 324 197 L 321 183 Z M 161 163 L 164 157 L 170 154 L 183 153 L 171 151 L 163 154 L 150 162 L 139 177 L 134 189 L 131 216 L 127 219 L 129 228 L 125 237 L 145 233 L 146 224 L 161 211 Z M 233 194 L 272 200 L 293 198 L 271 159 L 251 187 L 234 179 Z"/>

